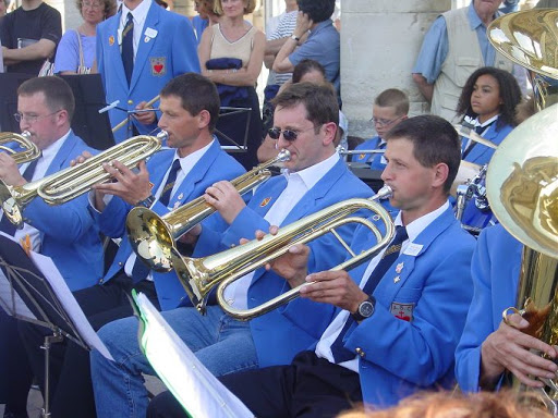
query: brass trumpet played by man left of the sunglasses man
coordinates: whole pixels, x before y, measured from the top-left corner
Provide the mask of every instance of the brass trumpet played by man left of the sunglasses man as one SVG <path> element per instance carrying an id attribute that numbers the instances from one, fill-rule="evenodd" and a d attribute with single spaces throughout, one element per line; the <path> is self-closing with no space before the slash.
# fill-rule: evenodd
<path id="1" fill-rule="evenodd" d="M 48 205 L 56 206 L 70 201 L 90 190 L 97 183 L 110 179 L 102 164 L 119 160 L 129 169 L 158 151 L 168 136 L 161 131 L 157 136 L 138 135 L 126 139 L 84 163 L 69 167 L 54 174 L 23 186 L 10 186 L 0 181 L 0 205 L 4 216 L 17 229 L 23 228 L 23 209 L 35 197 L 41 197 Z"/>

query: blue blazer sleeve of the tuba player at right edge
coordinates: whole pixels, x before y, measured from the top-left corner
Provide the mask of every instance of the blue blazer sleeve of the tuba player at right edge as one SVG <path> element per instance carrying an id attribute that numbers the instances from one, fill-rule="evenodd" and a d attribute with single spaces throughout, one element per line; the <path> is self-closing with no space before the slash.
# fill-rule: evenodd
<path id="1" fill-rule="evenodd" d="M 504 309 L 515 306 L 523 245 L 500 224 L 478 236 L 473 255 L 473 300 L 456 351 L 456 377 L 462 391 L 477 392 L 481 345 L 498 329 Z"/>

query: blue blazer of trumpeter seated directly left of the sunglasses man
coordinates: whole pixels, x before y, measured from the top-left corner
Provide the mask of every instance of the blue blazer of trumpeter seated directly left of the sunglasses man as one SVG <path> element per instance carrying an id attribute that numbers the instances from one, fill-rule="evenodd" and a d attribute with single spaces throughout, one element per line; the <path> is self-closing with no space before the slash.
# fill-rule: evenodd
<path id="1" fill-rule="evenodd" d="M 173 149 L 166 149 L 157 152 L 148 162 L 147 169 L 150 173 L 149 180 L 154 184 L 154 190 L 157 190 L 169 170 L 174 157 Z M 236 160 L 222 151 L 217 140 L 214 140 L 209 149 L 204 153 L 199 161 L 192 168 L 190 173 L 180 184 L 174 195 L 169 201 L 169 207 L 184 205 L 190 200 L 202 196 L 206 188 L 220 180 L 232 180 L 244 172 L 242 165 Z M 114 197 L 101 213 L 93 210 L 92 213 L 99 222 L 100 230 L 108 236 L 122 237 L 120 248 L 114 257 L 105 278 L 99 281 L 100 284 L 112 279 L 125 265 L 132 254 L 132 246 L 125 232 L 125 219 L 132 206 L 124 200 Z M 158 214 L 168 213 L 170 210 L 160 201 L 156 201 L 151 210 Z M 174 271 L 169 273 L 157 273 L 153 271 L 153 279 L 157 290 L 157 297 L 162 310 L 173 309 L 179 306 L 184 296 L 184 288 L 179 282 Z"/>

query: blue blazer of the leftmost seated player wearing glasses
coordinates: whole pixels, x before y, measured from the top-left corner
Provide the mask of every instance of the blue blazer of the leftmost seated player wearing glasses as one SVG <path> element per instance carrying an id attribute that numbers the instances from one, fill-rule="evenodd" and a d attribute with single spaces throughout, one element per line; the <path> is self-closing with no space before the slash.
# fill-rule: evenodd
<path id="1" fill-rule="evenodd" d="M 98 152 L 70 132 L 45 175 L 68 168 L 83 151 Z M 60 206 L 35 198 L 23 211 L 26 222 L 40 232 L 40 254 L 52 258 L 71 291 L 89 287 L 102 276 L 102 244 L 87 207 L 85 194 Z"/>

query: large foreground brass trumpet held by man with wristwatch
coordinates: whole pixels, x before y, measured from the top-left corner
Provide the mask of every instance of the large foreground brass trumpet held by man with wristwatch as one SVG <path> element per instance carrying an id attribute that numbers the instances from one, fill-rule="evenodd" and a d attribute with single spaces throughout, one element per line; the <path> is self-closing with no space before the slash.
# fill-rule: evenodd
<path id="1" fill-rule="evenodd" d="M 235 309 L 228 304 L 225 298 L 225 290 L 229 284 L 282 256 L 291 246 L 308 243 L 329 232 L 333 234 L 351 255 L 351 258 L 333 267 L 331 270 L 351 269 L 371 259 L 387 246 L 393 237 L 395 226 L 391 217 L 377 202 L 378 199 L 387 198 L 390 195 L 391 188 L 384 186 L 376 195 L 368 199 L 353 198 L 340 201 L 281 228 L 277 235 L 267 234 L 260 241 L 254 239 L 239 247 L 204 258 L 183 257 L 173 247 L 171 250 L 172 266 L 192 304 L 202 315 L 205 314 L 209 292 L 215 286 L 218 286 L 217 302 L 221 308 L 232 318 L 247 321 L 299 297 L 300 290 L 311 283 L 291 288 L 282 295 L 246 310 Z M 351 216 L 361 209 L 367 209 L 376 213 L 379 218 L 378 220 L 384 222 L 386 226 L 384 236 L 368 219 Z M 376 245 L 359 255 L 351 250 L 350 246 L 336 231 L 336 228 L 352 222 L 368 228 L 377 239 Z"/>

